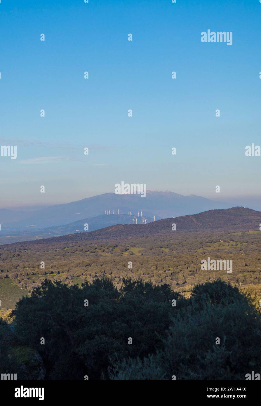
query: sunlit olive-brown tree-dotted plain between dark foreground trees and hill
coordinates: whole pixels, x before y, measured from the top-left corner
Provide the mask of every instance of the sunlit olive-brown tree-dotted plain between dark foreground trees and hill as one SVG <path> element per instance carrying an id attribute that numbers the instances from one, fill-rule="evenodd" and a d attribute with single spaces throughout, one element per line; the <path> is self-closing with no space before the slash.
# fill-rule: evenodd
<path id="1" fill-rule="evenodd" d="M 153 224 L 153 223 L 150 223 Z M 233 286 L 261 283 L 260 231 L 256 233 L 177 233 L 136 237 L 128 240 L 72 241 L 41 240 L 0 247 L 0 296 L 2 309 L 11 304 L 13 290 L 19 295 L 32 292 L 44 279 L 66 285 L 91 282 L 96 278 L 112 278 L 120 288 L 123 279 L 142 278 L 154 285 L 168 284 L 177 292 L 190 294 L 197 283 L 221 278 Z M 75 237 L 76 238 L 76 237 Z M 221 241 L 220 241 L 221 240 Z M 233 272 L 201 270 L 201 260 L 233 260 Z M 45 268 L 41 269 L 41 261 Z M 128 268 L 132 261 L 132 268 Z M 1 282 L 2 281 L 2 282 Z M 11 294 L 12 293 L 12 294 Z M 16 297 L 16 296 L 15 296 Z M 6 298 L 6 299 L 5 299 Z M 259 300 L 261 297 L 259 298 Z M 18 298 L 17 298 L 18 300 Z"/>

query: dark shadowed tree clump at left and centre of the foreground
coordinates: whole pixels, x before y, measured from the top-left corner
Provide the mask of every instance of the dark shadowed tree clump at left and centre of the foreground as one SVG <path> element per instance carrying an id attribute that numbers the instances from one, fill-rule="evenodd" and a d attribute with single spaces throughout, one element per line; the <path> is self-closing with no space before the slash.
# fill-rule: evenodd
<path id="1" fill-rule="evenodd" d="M 15 330 L 20 341 L 41 354 L 47 378 L 99 379 L 115 354 L 143 357 L 161 348 L 177 310 L 173 299 L 177 308 L 186 302 L 168 286 L 141 280 L 124 280 L 120 291 L 107 278 L 82 288 L 46 280 L 17 303 Z"/>

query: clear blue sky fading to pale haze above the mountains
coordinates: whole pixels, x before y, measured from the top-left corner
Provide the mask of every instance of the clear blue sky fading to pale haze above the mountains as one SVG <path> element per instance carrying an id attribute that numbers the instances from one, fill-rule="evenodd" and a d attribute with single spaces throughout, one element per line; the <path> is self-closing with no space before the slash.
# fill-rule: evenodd
<path id="1" fill-rule="evenodd" d="M 233 44 L 202 43 L 208 29 Z M 261 145 L 260 41 L 259 0 L 1 0 L 0 145 L 17 159 L 0 156 L 0 207 L 121 181 L 260 196 L 261 157 L 245 156 Z"/>

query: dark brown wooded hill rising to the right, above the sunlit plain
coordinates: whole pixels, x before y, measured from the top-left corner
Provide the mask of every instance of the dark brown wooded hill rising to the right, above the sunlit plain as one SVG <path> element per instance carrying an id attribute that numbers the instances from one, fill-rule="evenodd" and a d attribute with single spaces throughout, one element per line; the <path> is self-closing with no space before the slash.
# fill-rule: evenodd
<path id="1" fill-rule="evenodd" d="M 207 212 L 193 214 L 191 216 L 165 218 L 149 224 L 113 225 L 91 232 L 74 233 L 61 237 L 49 238 L 47 240 L 26 242 L 26 244 L 101 240 L 198 231 L 259 231 L 260 223 L 261 212 L 246 207 L 233 207 L 231 209 L 208 210 Z M 173 230 L 173 224 L 176 225 L 176 231 Z M 16 244 L 20 245 L 22 243 Z"/>

